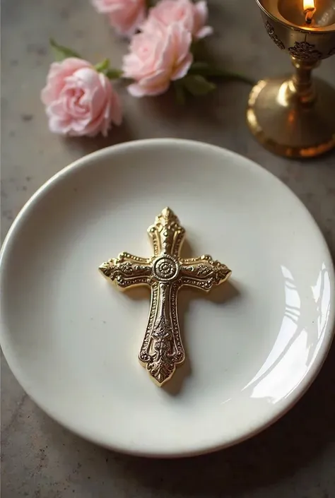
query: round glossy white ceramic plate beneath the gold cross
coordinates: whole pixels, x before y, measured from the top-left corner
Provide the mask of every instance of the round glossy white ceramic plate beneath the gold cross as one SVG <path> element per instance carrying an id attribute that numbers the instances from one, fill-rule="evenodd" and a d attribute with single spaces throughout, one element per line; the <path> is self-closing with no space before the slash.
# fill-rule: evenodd
<path id="1" fill-rule="evenodd" d="M 184 255 L 233 271 L 204 296 L 180 292 L 187 362 L 158 388 L 138 362 L 149 294 L 98 271 L 170 206 Z M 30 199 L 1 253 L 1 345 L 25 391 L 91 441 L 186 456 L 246 439 L 283 415 L 331 344 L 334 270 L 315 221 L 245 158 L 174 139 L 124 143 L 59 172 Z"/>

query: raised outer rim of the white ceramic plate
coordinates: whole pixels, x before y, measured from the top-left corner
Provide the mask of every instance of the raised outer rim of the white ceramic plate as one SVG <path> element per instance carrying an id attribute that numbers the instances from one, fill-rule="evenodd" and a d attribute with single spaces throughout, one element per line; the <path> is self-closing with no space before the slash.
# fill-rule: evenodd
<path id="1" fill-rule="evenodd" d="M 239 158 L 242 159 L 242 163 L 244 162 L 245 165 L 249 163 L 249 167 L 251 167 L 254 171 L 257 171 L 258 173 L 264 174 L 265 176 L 269 177 L 271 181 L 278 182 L 281 184 L 281 187 L 286 190 L 287 194 L 289 194 L 292 198 L 295 199 L 295 202 L 300 204 L 300 208 L 302 208 L 303 211 L 308 215 L 307 218 L 310 220 L 310 223 L 314 226 L 315 228 L 315 235 L 319 239 L 320 246 L 323 247 L 324 254 L 327 254 L 328 259 L 329 259 L 329 274 L 330 274 L 330 286 L 331 286 L 331 294 L 335 294 L 335 271 L 334 271 L 334 261 L 331 256 L 331 252 L 329 250 L 329 246 L 327 244 L 326 239 L 324 238 L 324 235 L 322 233 L 322 230 L 320 229 L 319 225 L 317 224 L 315 218 L 313 215 L 310 213 L 310 211 L 307 209 L 305 204 L 300 200 L 300 198 L 276 175 L 269 170 L 266 170 L 264 167 L 259 165 L 257 162 L 254 160 L 251 160 L 244 155 L 240 153 L 236 153 L 233 150 L 229 150 L 227 148 L 219 147 L 219 146 L 214 146 L 211 143 L 206 143 L 202 141 L 194 141 L 194 140 L 186 140 L 182 138 L 147 138 L 143 140 L 134 140 L 134 141 L 128 141 L 124 143 L 118 143 L 116 145 L 108 146 L 106 148 L 102 148 L 100 150 L 96 150 L 92 153 L 89 153 L 87 155 L 83 155 L 81 158 L 78 158 L 77 160 L 71 162 L 69 165 L 66 167 L 62 168 L 59 170 L 59 172 L 55 173 L 47 179 L 47 181 L 40 186 L 35 193 L 30 196 L 28 201 L 23 205 L 23 207 L 20 209 L 18 212 L 18 215 L 16 215 L 16 218 L 13 220 L 13 223 L 11 227 L 9 228 L 6 237 L 4 239 L 4 242 L 2 244 L 1 250 L 0 250 L 0 287 L 2 287 L 3 279 L 4 279 L 4 268 L 6 268 L 6 254 L 11 250 L 11 242 L 13 238 L 16 235 L 16 232 L 20 230 L 21 223 L 24 223 L 24 217 L 25 214 L 28 214 L 30 209 L 32 209 L 35 206 L 35 203 L 39 201 L 40 198 L 45 196 L 48 192 L 49 189 L 52 188 L 52 186 L 61 181 L 64 177 L 66 177 L 68 174 L 72 174 L 76 172 L 77 170 L 81 170 L 81 168 L 84 167 L 90 167 L 91 162 L 95 161 L 98 158 L 102 157 L 108 157 L 110 155 L 110 151 L 112 151 L 112 155 L 118 150 L 127 150 L 129 148 L 141 148 L 141 146 L 166 146 L 166 145 L 172 145 L 180 143 L 181 146 L 185 147 L 198 147 L 198 148 L 207 148 L 209 151 L 213 151 L 216 153 L 224 153 L 227 156 L 231 156 L 234 158 Z M 242 165 L 242 167 L 244 167 Z M 269 420 L 265 422 L 259 422 L 259 425 L 255 427 L 254 429 L 245 429 L 245 432 L 240 434 L 240 437 L 235 437 L 235 439 L 232 439 L 231 441 L 221 441 L 221 443 L 218 441 L 218 444 L 212 444 L 212 445 L 207 445 L 206 448 L 202 447 L 199 449 L 189 449 L 187 451 L 153 451 L 153 450 L 147 450 L 147 451 L 141 451 L 139 449 L 133 449 L 131 446 L 126 447 L 127 445 L 120 446 L 119 444 L 110 444 L 110 442 L 102 441 L 101 439 L 95 437 L 93 434 L 90 435 L 85 431 L 82 431 L 81 429 L 77 429 L 74 427 L 74 425 L 71 425 L 69 423 L 68 419 L 64 419 L 59 413 L 54 414 L 52 413 L 52 410 L 45 405 L 42 401 L 37 401 L 35 398 L 35 395 L 31 393 L 30 389 L 25 385 L 24 379 L 22 379 L 21 372 L 19 372 L 18 368 L 15 365 L 15 360 L 13 359 L 13 356 L 11 355 L 11 352 L 9 351 L 9 348 L 6 346 L 6 340 L 4 338 L 5 333 L 4 329 L 9 328 L 6 326 L 4 323 L 4 320 L 2 318 L 2 309 L 3 309 L 3 301 L 1 300 L 0 302 L 0 311 L 1 311 L 1 321 L 0 321 L 0 344 L 1 344 L 1 349 L 4 353 L 4 357 L 6 358 L 6 362 L 8 363 L 9 369 L 11 369 L 11 372 L 13 373 L 14 377 L 16 378 L 16 381 L 18 381 L 18 384 L 20 384 L 21 388 L 25 391 L 25 393 L 28 394 L 28 396 L 33 400 L 33 402 L 42 410 L 44 411 L 52 420 L 55 422 L 59 423 L 63 427 L 65 427 L 67 430 L 72 432 L 73 434 L 78 435 L 79 437 L 82 437 L 83 439 L 86 439 L 87 441 L 92 442 L 93 444 L 98 444 L 99 446 L 105 447 L 106 449 L 110 449 L 113 451 L 118 451 L 119 453 L 125 453 L 133 456 L 142 456 L 146 458 L 184 458 L 184 457 L 189 457 L 189 456 L 197 456 L 197 455 L 202 455 L 206 453 L 211 453 L 213 451 L 218 451 L 221 449 L 226 449 L 230 446 L 235 446 L 235 444 L 240 444 L 240 442 L 245 441 L 251 437 L 254 437 L 256 434 L 259 434 L 260 432 L 264 431 L 271 425 L 273 425 L 275 422 L 277 422 L 281 417 L 286 415 L 288 411 L 293 408 L 293 406 L 300 401 L 300 398 L 304 396 L 306 391 L 310 388 L 312 383 L 315 381 L 317 375 L 319 374 L 320 370 L 322 369 L 322 366 L 327 359 L 327 355 L 329 353 L 329 350 L 331 348 L 331 344 L 334 340 L 334 335 L 335 335 L 335 306 L 333 306 L 332 311 L 330 312 L 330 316 L 328 319 L 328 332 L 327 332 L 327 339 L 325 339 L 325 343 L 323 344 L 323 348 L 320 348 L 318 355 L 315 359 L 313 367 L 307 372 L 306 376 L 298 386 L 295 387 L 295 395 L 293 399 L 290 399 L 290 401 L 284 403 L 283 407 L 281 410 L 278 411 L 274 416 L 272 416 Z M 317 360 L 318 358 L 318 360 Z"/>

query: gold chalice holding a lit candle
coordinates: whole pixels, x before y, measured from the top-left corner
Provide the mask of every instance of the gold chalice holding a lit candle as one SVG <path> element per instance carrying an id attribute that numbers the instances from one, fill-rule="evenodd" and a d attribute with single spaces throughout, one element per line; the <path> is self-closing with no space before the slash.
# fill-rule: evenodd
<path id="1" fill-rule="evenodd" d="M 335 0 L 256 1 L 269 37 L 290 54 L 295 73 L 252 88 L 249 129 L 288 158 L 325 153 L 335 146 L 335 88 L 312 78 L 312 69 L 335 54 Z"/>

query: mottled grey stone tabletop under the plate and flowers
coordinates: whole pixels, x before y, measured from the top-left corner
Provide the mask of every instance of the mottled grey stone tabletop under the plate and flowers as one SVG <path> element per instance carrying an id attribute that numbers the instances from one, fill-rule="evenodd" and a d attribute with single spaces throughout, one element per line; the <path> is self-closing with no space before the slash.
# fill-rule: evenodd
<path id="1" fill-rule="evenodd" d="M 230 69 L 253 78 L 289 71 L 251 0 L 209 0 L 216 35 L 208 47 Z M 256 160 L 290 186 L 315 216 L 335 254 L 335 154 L 298 162 L 277 158 L 249 136 L 249 88 L 222 83 L 195 105 L 171 95 L 135 100 L 119 88 L 125 119 L 106 139 L 64 140 L 49 133 L 40 89 L 52 60 L 49 36 L 92 61 L 118 66 L 117 40 L 88 0 L 2 2 L 1 235 L 25 201 L 72 160 L 112 143 L 178 136 L 214 143 Z M 335 83 L 335 57 L 319 76 Z M 226 451 L 182 461 L 112 453 L 66 432 L 23 393 L 1 361 L 2 498 L 333 498 L 335 348 L 298 405 L 259 436 Z"/>

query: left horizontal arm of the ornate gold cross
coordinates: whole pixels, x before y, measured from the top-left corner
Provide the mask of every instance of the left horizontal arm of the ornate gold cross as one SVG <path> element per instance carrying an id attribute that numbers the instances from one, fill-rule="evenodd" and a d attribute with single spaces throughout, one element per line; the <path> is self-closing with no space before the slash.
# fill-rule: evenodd
<path id="1" fill-rule="evenodd" d="M 117 258 L 110 259 L 99 267 L 100 271 L 119 287 L 149 285 L 151 282 L 152 259 L 140 258 L 122 252 Z"/>

